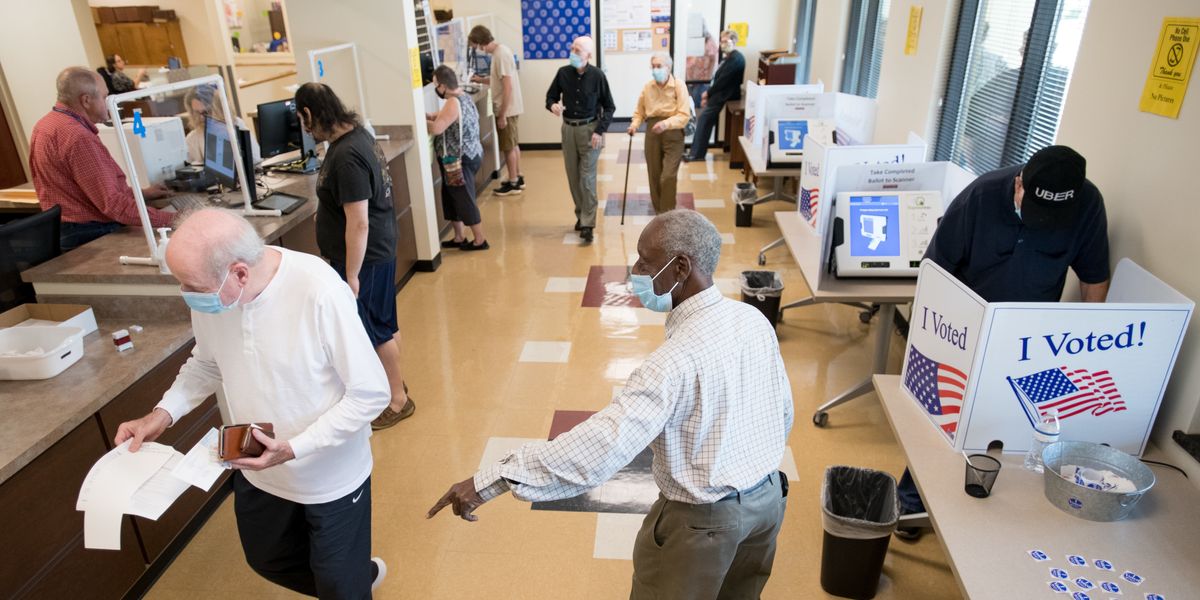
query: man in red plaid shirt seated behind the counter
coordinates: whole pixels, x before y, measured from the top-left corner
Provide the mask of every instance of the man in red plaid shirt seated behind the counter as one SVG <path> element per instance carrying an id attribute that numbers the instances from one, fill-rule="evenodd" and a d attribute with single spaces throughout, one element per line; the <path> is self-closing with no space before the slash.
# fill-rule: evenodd
<path id="1" fill-rule="evenodd" d="M 100 140 L 97 122 L 108 120 L 108 89 L 100 74 L 67 67 L 56 82 L 58 103 L 34 126 L 29 170 L 42 210 L 62 206 L 62 250 L 82 246 L 126 224 L 140 224 L 125 173 Z M 142 190 L 146 200 L 170 193 L 158 184 Z M 170 226 L 174 214 L 146 208 L 154 227 Z"/>

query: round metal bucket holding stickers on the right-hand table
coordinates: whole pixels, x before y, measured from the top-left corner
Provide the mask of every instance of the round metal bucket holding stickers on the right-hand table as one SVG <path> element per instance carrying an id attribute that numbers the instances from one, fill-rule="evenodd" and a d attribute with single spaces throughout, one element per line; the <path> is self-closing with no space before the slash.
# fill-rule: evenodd
<path id="1" fill-rule="evenodd" d="M 1120 521 L 1129 516 L 1138 500 L 1154 486 L 1154 473 L 1136 457 L 1091 442 L 1050 444 L 1042 452 L 1042 462 L 1045 464 L 1043 480 L 1050 504 L 1088 521 Z M 1074 480 L 1060 475 L 1063 464 L 1111 470 L 1132 481 L 1135 490 L 1114 492 L 1076 485 Z"/>

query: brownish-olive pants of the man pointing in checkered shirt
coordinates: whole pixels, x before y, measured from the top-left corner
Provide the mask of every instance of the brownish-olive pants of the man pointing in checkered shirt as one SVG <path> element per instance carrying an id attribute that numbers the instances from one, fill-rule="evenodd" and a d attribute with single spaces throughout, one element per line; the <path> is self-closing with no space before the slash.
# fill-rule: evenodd
<path id="1" fill-rule="evenodd" d="M 787 508 L 779 478 L 713 504 L 659 496 L 634 542 L 630 600 L 758 598 Z"/>

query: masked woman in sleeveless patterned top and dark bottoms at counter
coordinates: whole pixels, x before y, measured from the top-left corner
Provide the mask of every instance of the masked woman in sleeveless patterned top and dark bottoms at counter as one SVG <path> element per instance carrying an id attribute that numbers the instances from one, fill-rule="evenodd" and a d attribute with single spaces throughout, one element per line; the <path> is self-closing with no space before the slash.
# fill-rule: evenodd
<path id="1" fill-rule="evenodd" d="M 443 241 L 442 247 L 487 250 L 491 246 L 475 205 L 475 172 L 484 162 L 479 110 L 458 88 L 458 76 L 445 65 L 433 71 L 433 91 L 445 103 L 442 110 L 425 115 L 425 125 L 433 136 L 433 151 L 442 169 L 443 215 L 454 224 L 454 239 Z M 474 240 L 467 240 L 464 226 L 470 228 Z"/>

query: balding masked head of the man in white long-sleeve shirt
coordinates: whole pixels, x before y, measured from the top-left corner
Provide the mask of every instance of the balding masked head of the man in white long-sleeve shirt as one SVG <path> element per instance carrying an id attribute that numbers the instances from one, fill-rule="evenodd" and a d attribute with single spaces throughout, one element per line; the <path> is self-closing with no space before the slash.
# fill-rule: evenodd
<path id="1" fill-rule="evenodd" d="M 263 259 L 263 239 L 240 215 L 221 209 L 200 209 L 184 217 L 167 245 L 167 265 L 175 278 L 198 292 L 221 284 L 229 266 L 247 268 Z"/>

